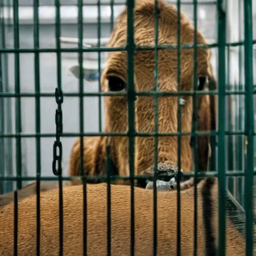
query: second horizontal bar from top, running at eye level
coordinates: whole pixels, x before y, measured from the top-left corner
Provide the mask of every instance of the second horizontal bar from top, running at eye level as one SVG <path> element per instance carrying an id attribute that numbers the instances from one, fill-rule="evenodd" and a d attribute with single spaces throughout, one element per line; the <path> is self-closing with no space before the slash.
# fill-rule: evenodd
<path id="1" fill-rule="evenodd" d="M 256 85 L 253 85 L 256 86 Z M 209 90 L 201 90 L 201 91 L 139 91 L 136 92 L 135 95 L 137 96 L 192 96 L 193 93 L 197 95 L 217 95 L 217 91 L 209 91 Z M 81 93 L 82 96 L 125 96 L 126 92 L 83 92 Z M 243 95 L 245 94 L 245 91 L 225 91 L 226 95 Z M 253 92 L 253 94 L 256 94 L 256 90 Z M 54 93 L 51 92 L 20 92 L 20 93 L 14 93 L 14 92 L 1 92 L 0 97 L 54 97 Z M 63 92 L 63 96 L 66 97 L 78 97 L 80 96 L 79 92 Z"/>

